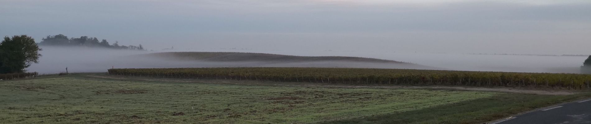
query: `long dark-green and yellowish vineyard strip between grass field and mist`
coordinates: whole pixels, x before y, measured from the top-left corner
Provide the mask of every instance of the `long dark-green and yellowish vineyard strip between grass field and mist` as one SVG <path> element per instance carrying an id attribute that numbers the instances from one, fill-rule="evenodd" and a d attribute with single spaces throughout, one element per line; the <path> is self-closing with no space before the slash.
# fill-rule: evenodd
<path id="1" fill-rule="evenodd" d="M 519 86 L 554 89 L 589 89 L 589 82 L 591 82 L 591 75 L 571 73 L 470 72 L 361 68 L 109 69 L 109 74 L 149 76 L 154 78 L 233 79 L 366 85 Z"/>

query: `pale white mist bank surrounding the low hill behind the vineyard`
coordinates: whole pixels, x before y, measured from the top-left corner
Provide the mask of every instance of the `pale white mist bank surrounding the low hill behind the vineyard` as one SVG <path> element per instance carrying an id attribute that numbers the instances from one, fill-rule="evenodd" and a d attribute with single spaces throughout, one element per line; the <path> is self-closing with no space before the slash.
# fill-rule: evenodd
<path id="1" fill-rule="evenodd" d="M 324 67 L 324 68 L 402 68 L 445 69 L 455 71 L 579 73 L 585 56 L 469 55 L 463 53 L 339 52 L 339 51 L 256 51 L 240 49 L 200 49 L 172 51 L 129 51 L 82 47 L 43 46 L 40 63 L 30 72 L 106 72 L 110 68 L 202 68 L 202 67 Z M 393 66 L 364 62 L 204 62 L 137 57 L 155 52 L 253 52 L 296 56 L 355 56 L 415 63 L 434 68 Z"/>

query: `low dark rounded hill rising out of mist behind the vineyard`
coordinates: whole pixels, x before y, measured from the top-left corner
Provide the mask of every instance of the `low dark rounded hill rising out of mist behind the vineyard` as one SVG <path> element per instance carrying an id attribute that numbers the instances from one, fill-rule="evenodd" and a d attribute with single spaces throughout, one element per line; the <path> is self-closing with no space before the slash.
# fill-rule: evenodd
<path id="1" fill-rule="evenodd" d="M 194 62 L 194 66 L 197 67 L 313 67 L 442 70 L 441 68 L 414 63 L 349 56 L 292 56 L 243 52 L 161 52 L 137 55 L 137 57 L 167 61 Z"/>

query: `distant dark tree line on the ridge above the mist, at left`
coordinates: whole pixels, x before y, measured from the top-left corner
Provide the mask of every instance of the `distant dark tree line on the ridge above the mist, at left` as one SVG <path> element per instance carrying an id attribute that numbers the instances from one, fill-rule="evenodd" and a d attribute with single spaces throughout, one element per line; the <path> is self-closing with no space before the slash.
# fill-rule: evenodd
<path id="1" fill-rule="evenodd" d="M 133 49 L 133 50 L 145 50 L 141 44 L 138 46 L 134 45 L 119 45 L 118 41 L 115 41 L 112 45 L 106 40 L 102 39 L 99 41 L 98 38 L 91 38 L 89 36 L 80 36 L 80 38 L 68 38 L 66 35 L 48 35 L 41 39 L 39 45 L 47 46 L 86 46 L 90 48 L 111 48 L 111 49 Z"/>

